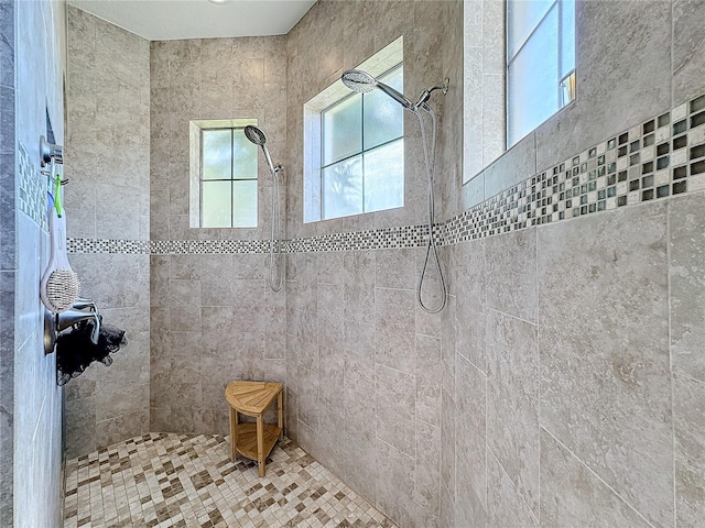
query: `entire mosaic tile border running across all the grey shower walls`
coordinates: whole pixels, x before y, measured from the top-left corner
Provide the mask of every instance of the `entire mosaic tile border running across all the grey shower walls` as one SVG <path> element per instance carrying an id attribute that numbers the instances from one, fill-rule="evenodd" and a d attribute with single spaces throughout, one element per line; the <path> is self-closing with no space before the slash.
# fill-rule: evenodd
<path id="1" fill-rule="evenodd" d="M 568 157 L 434 227 L 441 245 L 705 190 L 705 95 Z M 282 241 L 283 253 L 425 245 L 425 226 Z M 267 253 L 269 241 L 69 239 L 73 253 Z"/>

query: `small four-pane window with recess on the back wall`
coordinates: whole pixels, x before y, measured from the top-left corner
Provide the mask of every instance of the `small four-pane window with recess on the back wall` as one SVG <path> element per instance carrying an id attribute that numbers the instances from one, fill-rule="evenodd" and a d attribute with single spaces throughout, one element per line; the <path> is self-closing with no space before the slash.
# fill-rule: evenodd
<path id="1" fill-rule="evenodd" d="M 258 147 L 247 124 L 257 120 L 192 122 L 191 227 L 257 227 Z"/>

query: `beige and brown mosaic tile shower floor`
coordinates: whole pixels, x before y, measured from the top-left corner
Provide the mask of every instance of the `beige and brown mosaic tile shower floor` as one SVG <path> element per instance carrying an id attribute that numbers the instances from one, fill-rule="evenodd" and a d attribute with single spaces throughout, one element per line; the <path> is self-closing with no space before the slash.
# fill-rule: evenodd
<path id="1" fill-rule="evenodd" d="M 65 528 L 394 527 L 284 439 L 267 476 L 221 436 L 151 433 L 66 462 Z"/>

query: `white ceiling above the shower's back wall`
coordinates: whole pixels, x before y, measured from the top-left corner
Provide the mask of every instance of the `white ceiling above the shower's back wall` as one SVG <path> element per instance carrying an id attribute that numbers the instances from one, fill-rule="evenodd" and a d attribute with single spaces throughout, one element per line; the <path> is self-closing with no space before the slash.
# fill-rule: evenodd
<path id="1" fill-rule="evenodd" d="M 283 35 L 315 0 L 68 0 L 150 41 Z"/>

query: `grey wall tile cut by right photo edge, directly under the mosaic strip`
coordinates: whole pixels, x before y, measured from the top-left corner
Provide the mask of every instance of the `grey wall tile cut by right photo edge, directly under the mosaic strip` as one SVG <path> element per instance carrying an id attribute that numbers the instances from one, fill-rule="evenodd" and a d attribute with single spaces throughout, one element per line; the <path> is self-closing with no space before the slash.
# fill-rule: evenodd
<path id="1" fill-rule="evenodd" d="M 669 204 L 673 371 L 705 382 L 705 195 Z"/>

